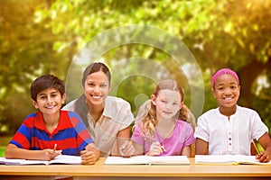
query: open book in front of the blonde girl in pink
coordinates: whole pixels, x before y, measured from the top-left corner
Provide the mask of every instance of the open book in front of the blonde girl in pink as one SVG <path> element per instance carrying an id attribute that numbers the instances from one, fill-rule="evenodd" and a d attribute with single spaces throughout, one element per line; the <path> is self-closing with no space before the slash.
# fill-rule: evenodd
<path id="1" fill-rule="evenodd" d="M 190 165 L 186 156 L 164 156 L 164 157 L 107 157 L 105 165 Z"/>

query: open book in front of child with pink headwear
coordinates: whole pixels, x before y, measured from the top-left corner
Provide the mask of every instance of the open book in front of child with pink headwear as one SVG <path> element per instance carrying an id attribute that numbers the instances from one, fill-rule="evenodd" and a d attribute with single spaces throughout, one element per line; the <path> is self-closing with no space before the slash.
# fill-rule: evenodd
<path id="1" fill-rule="evenodd" d="M 196 165 L 269 165 L 271 162 L 261 163 L 255 156 L 245 155 L 196 155 Z"/>

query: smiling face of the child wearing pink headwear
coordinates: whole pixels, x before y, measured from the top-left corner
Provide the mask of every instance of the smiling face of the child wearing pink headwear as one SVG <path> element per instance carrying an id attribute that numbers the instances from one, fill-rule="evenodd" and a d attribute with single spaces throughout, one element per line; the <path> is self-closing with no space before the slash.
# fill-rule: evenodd
<path id="1" fill-rule="evenodd" d="M 225 74 L 217 78 L 211 91 L 220 108 L 235 107 L 240 94 L 240 85 L 234 76 Z"/>

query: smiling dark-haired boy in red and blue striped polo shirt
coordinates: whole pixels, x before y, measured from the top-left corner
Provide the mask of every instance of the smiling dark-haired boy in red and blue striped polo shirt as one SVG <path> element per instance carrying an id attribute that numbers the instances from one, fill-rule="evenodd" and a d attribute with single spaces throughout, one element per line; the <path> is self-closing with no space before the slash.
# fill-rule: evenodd
<path id="1" fill-rule="evenodd" d="M 51 160 L 61 154 L 81 156 L 82 164 L 95 164 L 99 157 L 89 132 L 75 112 L 61 111 L 64 83 L 44 75 L 31 85 L 31 101 L 39 112 L 26 117 L 5 150 L 6 158 Z"/>

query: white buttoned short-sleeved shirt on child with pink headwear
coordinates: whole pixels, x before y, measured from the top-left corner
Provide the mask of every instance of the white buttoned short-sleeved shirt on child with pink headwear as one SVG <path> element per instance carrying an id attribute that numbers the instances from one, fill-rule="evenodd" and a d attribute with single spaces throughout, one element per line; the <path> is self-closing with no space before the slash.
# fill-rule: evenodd
<path id="1" fill-rule="evenodd" d="M 195 138 L 209 142 L 210 155 L 250 155 L 252 139 L 259 139 L 268 132 L 254 110 L 237 106 L 228 119 L 219 108 L 203 113 L 195 130 Z"/>

